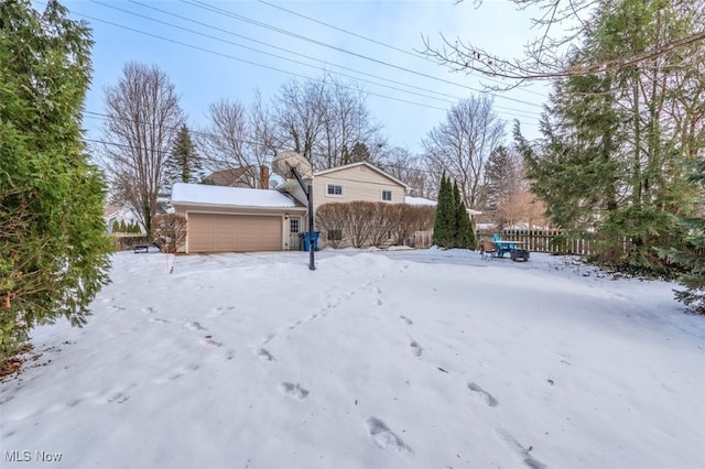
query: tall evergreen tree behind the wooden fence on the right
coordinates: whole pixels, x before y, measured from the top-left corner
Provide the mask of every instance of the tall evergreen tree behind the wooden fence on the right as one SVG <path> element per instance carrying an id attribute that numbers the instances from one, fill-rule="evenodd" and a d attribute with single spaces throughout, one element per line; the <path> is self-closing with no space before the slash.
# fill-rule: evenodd
<path id="1" fill-rule="evenodd" d="M 677 3 L 677 4 L 676 4 Z M 599 2 L 575 68 L 658 50 L 697 30 L 705 20 L 691 2 Z M 696 45 L 620 67 L 573 76 L 555 84 L 541 122 L 543 139 L 516 140 L 552 225 L 597 241 L 593 260 L 616 269 L 666 273 L 654 248 L 668 248 L 687 216 L 694 192 L 682 162 L 697 157 L 705 134 L 701 111 L 705 81 Z M 702 46 L 701 46 L 702 47 Z"/>

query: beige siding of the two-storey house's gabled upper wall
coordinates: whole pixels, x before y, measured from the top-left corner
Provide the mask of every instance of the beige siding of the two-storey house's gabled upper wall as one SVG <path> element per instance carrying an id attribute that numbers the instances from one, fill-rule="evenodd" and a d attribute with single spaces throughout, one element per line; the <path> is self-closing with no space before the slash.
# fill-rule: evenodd
<path id="1" fill-rule="evenodd" d="M 377 171 L 365 165 L 347 167 L 314 177 L 314 211 L 323 204 L 335 201 L 382 201 L 382 189 L 392 192 L 390 204 L 403 204 L 405 189 Z M 341 196 L 329 196 L 327 185 L 343 186 Z"/>

